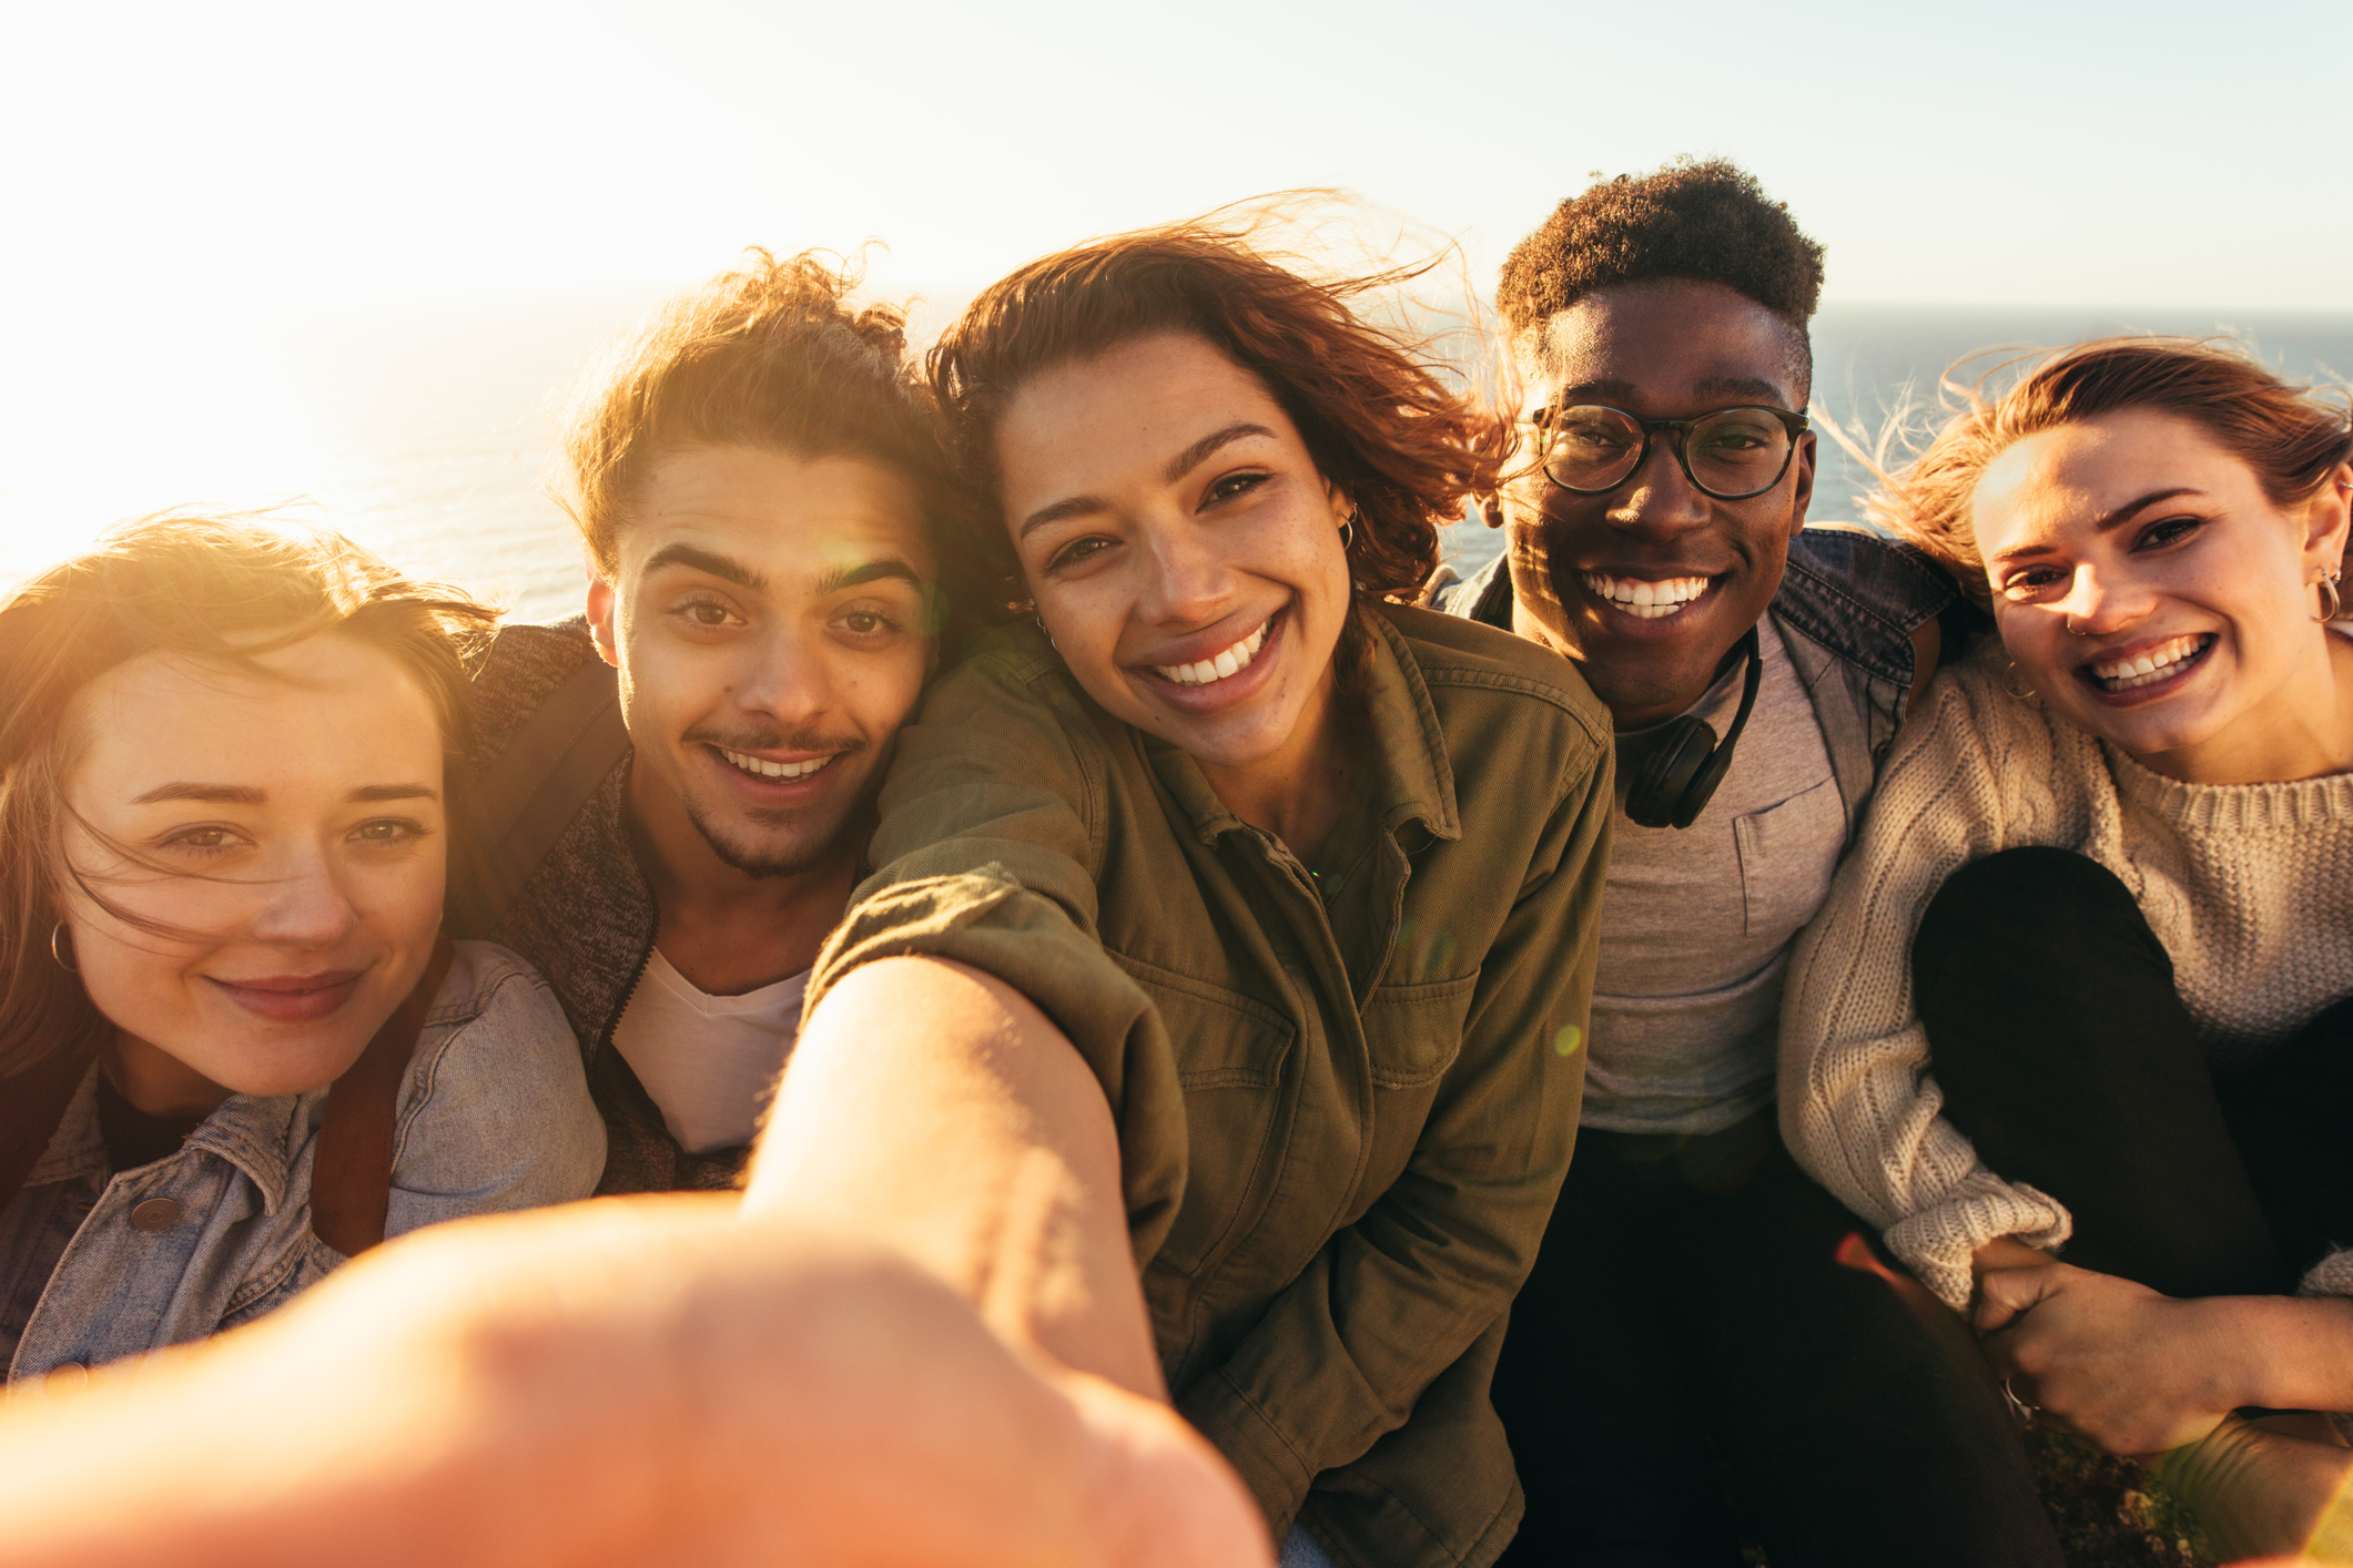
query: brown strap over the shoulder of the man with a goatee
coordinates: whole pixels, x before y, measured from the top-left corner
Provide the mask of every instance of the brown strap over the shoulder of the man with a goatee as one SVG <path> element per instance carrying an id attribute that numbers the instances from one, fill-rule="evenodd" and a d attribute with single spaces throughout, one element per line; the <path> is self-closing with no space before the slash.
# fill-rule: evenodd
<path id="1" fill-rule="evenodd" d="M 468 875 L 449 900 L 452 931 L 487 938 L 499 929 L 555 839 L 626 755 L 619 675 L 591 658 L 475 780 Z"/>

